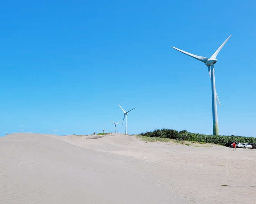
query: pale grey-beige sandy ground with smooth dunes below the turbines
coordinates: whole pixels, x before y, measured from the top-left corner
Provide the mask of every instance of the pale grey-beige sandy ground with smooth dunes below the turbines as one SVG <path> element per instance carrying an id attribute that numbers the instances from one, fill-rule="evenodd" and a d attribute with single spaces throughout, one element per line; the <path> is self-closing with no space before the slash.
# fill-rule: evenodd
<path id="1" fill-rule="evenodd" d="M 0 203 L 255 203 L 256 150 L 93 137 L 1 137 Z"/>

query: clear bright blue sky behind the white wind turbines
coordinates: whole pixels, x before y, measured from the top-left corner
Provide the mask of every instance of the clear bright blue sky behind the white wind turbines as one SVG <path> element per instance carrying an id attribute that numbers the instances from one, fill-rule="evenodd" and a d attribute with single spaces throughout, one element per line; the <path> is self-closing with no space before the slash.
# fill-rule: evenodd
<path id="1" fill-rule="evenodd" d="M 156 128 L 256 137 L 256 1 L 1 1 L 0 136 Z M 125 132 L 121 124 L 118 132 Z"/>

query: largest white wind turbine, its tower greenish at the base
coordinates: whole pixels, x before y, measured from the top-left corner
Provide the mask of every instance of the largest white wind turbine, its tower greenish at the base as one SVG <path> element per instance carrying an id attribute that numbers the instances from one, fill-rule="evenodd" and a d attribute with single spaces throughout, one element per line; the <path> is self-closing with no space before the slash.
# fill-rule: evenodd
<path id="1" fill-rule="evenodd" d="M 220 105 L 220 101 L 218 99 L 217 93 L 216 93 L 216 89 L 215 89 L 215 75 L 214 75 L 214 64 L 217 62 L 217 54 L 220 52 L 220 50 L 222 49 L 222 47 L 227 43 L 227 41 L 229 40 L 229 38 L 231 37 L 231 35 L 224 41 L 224 43 L 222 43 L 222 45 L 219 47 L 219 49 L 216 50 L 216 52 L 210 57 L 210 59 L 208 59 L 207 57 L 202 57 L 202 56 L 197 56 L 197 55 L 193 55 L 190 54 L 188 52 L 185 52 L 181 49 L 178 49 L 176 47 L 172 47 L 174 49 L 177 49 L 178 51 L 193 57 L 201 62 L 203 62 L 207 67 L 208 67 L 208 72 L 211 78 L 211 83 L 212 83 L 212 122 L 213 122 L 213 135 L 219 135 L 219 124 L 218 124 L 218 115 L 217 115 L 217 102 L 216 100 L 219 102 Z"/>

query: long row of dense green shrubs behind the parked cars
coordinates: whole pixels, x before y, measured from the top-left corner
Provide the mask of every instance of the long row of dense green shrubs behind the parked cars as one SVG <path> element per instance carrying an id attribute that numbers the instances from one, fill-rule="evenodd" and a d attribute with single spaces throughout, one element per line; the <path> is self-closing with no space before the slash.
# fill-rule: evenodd
<path id="1" fill-rule="evenodd" d="M 140 133 L 146 137 L 159 137 L 159 138 L 170 138 L 176 140 L 186 140 L 194 142 L 206 142 L 225 145 L 227 142 L 241 142 L 241 143 L 254 143 L 256 144 L 255 137 L 244 137 L 244 136 L 224 136 L 224 135 L 203 135 L 199 133 L 191 133 L 187 130 L 177 131 L 172 129 L 155 129 L 152 132 Z"/>

